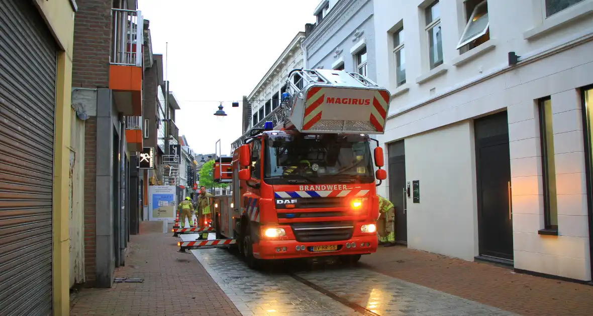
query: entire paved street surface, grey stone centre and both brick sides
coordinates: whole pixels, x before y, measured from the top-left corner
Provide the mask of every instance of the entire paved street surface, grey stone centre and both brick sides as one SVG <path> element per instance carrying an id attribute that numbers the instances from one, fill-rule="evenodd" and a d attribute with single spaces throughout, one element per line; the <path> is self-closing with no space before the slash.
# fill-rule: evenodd
<path id="1" fill-rule="evenodd" d="M 141 228 L 131 237 L 126 266 L 116 277 L 144 278 L 144 283 L 83 289 L 73 295 L 71 315 L 365 314 L 344 301 L 376 315 L 593 314 L 593 286 L 405 247 L 380 247 L 358 267 L 256 272 L 227 250 L 177 253 L 179 239 L 163 234 L 160 223 L 145 222 Z"/>

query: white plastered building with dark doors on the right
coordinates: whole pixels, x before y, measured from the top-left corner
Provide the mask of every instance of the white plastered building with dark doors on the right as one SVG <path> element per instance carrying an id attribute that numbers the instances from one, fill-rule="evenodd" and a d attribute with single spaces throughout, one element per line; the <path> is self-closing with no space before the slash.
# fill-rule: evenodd
<path id="1" fill-rule="evenodd" d="M 591 280 L 593 0 L 375 0 L 374 23 L 397 239 Z"/>

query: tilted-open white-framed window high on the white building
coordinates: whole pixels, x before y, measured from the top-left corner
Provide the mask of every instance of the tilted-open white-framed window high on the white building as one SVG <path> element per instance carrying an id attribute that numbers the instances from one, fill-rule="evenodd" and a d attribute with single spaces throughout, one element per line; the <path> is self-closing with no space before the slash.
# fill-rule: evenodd
<path id="1" fill-rule="evenodd" d="M 469 12 L 471 12 L 471 15 Z M 457 44 L 457 49 L 461 49 L 464 46 L 471 46 L 466 47 L 467 51 L 484 43 L 490 38 L 490 21 L 488 20 L 487 1 L 466 1 L 466 14 L 469 18 L 467 20 L 466 28 L 463 30 L 463 34 L 461 34 L 461 38 Z"/>

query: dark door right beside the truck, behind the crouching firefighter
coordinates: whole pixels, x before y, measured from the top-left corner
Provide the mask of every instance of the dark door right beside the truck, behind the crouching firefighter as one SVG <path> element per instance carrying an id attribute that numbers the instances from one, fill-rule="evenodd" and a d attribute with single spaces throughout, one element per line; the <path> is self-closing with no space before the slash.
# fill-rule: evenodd
<path id="1" fill-rule="evenodd" d="M 407 243 L 406 151 L 404 140 L 389 144 L 389 199 L 396 207 L 396 241 Z"/>

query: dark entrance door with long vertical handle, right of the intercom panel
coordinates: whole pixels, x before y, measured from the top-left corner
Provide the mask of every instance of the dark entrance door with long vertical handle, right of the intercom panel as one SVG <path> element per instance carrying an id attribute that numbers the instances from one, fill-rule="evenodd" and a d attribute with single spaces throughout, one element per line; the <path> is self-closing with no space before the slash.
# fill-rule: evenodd
<path id="1" fill-rule="evenodd" d="M 513 259 L 511 158 L 506 111 L 474 121 L 480 255 Z"/>

